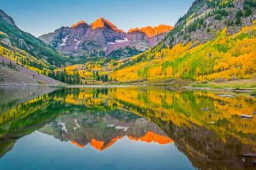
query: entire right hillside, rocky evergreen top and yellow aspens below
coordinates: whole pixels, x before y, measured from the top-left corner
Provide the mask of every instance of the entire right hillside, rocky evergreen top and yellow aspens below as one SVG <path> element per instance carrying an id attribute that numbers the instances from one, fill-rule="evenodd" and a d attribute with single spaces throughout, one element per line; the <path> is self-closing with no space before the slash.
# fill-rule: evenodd
<path id="1" fill-rule="evenodd" d="M 109 77 L 120 82 L 255 77 L 255 7 L 255 0 L 195 1 L 161 44 L 119 62 Z"/>

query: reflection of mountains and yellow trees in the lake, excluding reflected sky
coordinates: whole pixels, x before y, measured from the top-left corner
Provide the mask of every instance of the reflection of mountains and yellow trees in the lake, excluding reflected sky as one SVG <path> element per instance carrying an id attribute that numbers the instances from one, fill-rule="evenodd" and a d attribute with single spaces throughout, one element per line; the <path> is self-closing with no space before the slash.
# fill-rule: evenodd
<path id="1" fill-rule="evenodd" d="M 254 169 L 256 157 L 242 155 L 256 153 L 256 118 L 240 116 L 253 115 L 256 99 L 245 94 L 221 94 L 230 93 L 161 87 L 2 87 L 0 168 L 10 168 L 6 160 L 18 152 L 19 141 L 37 131 L 97 151 L 111 152 L 122 140 L 126 144 L 129 140 L 159 146 L 175 144 L 185 155 L 179 164 L 190 161 L 187 169 Z M 15 143 L 17 147 L 13 147 Z M 165 163 L 165 168 L 171 169 L 170 162 Z"/>

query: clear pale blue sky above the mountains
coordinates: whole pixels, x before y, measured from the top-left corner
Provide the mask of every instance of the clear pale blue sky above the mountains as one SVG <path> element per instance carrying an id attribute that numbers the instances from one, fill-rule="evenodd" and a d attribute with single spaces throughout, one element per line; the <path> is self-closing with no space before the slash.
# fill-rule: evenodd
<path id="1" fill-rule="evenodd" d="M 71 26 L 80 20 L 87 23 L 105 18 L 118 28 L 174 26 L 194 0 L 1 0 L 0 9 L 17 26 L 35 36 Z"/>

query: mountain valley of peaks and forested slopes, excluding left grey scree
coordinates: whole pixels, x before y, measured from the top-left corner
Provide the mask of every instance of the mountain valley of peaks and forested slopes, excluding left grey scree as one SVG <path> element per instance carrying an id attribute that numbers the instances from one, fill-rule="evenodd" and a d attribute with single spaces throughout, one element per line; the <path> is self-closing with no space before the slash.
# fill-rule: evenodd
<path id="1" fill-rule="evenodd" d="M 99 18 L 38 38 L 19 30 L 1 11 L 0 55 L 66 84 L 253 81 L 255 3 L 197 0 L 174 27 L 161 24 L 126 33 Z"/>

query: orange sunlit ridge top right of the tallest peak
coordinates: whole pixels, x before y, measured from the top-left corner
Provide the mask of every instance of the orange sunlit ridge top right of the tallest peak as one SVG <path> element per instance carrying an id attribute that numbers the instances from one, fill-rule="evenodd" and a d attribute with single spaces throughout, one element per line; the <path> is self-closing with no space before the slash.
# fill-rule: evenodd
<path id="1" fill-rule="evenodd" d="M 147 27 L 142 27 L 142 28 L 133 28 L 133 29 L 130 29 L 128 32 L 129 33 L 135 32 L 135 31 L 142 32 L 147 37 L 150 38 L 150 37 L 153 37 L 153 36 L 156 36 L 159 34 L 163 34 L 165 32 L 169 32 L 171 30 L 173 30 L 172 26 L 167 26 L 167 25 L 161 24 L 157 27 L 147 26 Z"/>

